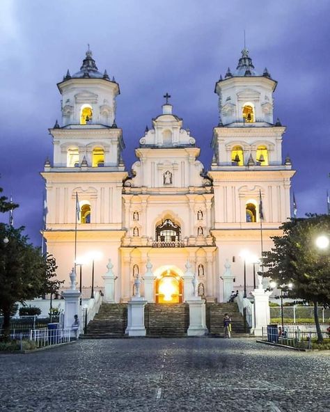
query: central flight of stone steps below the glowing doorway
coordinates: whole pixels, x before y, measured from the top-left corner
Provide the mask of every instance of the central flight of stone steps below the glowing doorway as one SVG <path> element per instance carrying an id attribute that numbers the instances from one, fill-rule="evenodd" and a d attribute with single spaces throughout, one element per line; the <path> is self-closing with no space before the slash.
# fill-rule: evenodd
<path id="1" fill-rule="evenodd" d="M 147 336 L 184 338 L 189 327 L 187 303 L 148 303 L 144 312 Z"/>

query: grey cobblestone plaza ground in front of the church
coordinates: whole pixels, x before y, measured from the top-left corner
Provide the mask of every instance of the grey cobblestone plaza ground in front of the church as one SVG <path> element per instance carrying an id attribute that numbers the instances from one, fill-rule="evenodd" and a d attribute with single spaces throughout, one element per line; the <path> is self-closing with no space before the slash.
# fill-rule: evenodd
<path id="1" fill-rule="evenodd" d="M 1 354 L 0 411 L 330 411 L 329 352 L 253 339 L 81 340 Z"/>

